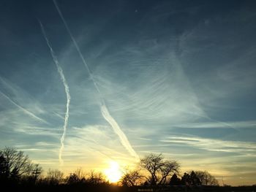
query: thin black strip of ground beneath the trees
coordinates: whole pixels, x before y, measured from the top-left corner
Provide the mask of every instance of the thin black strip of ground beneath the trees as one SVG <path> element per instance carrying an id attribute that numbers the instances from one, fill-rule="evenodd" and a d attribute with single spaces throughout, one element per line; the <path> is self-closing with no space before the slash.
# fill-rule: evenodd
<path id="1" fill-rule="evenodd" d="M 241 186 L 241 187 L 215 187 L 215 186 L 166 186 L 161 189 L 145 188 L 145 187 L 134 187 L 126 188 L 114 185 L 101 185 L 101 186 L 89 186 L 89 185 L 11 185 L 3 186 L 1 185 L 0 191 L 91 191 L 91 192 L 135 192 L 135 191 L 173 191 L 173 192 L 256 192 L 256 186 Z"/>

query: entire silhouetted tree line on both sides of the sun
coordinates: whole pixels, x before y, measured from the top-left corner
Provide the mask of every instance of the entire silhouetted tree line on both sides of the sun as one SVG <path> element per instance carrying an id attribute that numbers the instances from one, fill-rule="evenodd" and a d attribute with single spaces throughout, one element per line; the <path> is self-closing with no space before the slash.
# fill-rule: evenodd
<path id="1" fill-rule="evenodd" d="M 140 160 L 137 169 L 125 169 L 118 184 L 152 188 L 162 185 L 219 185 L 217 179 L 206 171 L 192 171 L 181 176 L 179 169 L 177 161 L 165 159 L 162 154 L 149 154 Z M 110 185 L 101 172 L 91 171 L 85 174 L 82 169 L 77 169 L 67 177 L 58 169 L 49 169 L 43 176 L 39 164 L 34 164 L 22 151 L 10 147 L 0 150 L 0 181 L 31 185 Z"/>

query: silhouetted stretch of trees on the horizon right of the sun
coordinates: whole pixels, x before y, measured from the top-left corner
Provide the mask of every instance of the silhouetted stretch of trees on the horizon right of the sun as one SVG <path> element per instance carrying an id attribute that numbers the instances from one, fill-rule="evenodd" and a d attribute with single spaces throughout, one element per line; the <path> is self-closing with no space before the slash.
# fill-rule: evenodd
<path id="1" fill-rule="evenodd" d="M 152 186 L 162 185 L 219 185 L 218 180 L 206 171 L 185 172 L 180 175 L 180 164 L 175 160 L 166 160 L 160 154 L 149 154 L 140 160 L 138 169 L 127 169 L 121 177 L 121 184 L 125 186 Z"/>

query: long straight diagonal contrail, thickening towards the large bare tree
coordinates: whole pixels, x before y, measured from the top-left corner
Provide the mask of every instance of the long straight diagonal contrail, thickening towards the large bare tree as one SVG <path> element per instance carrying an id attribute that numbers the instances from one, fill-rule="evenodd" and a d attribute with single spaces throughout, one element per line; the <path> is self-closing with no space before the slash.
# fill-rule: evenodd
<path id="1" fill-rule="evenodd" d="M 137 160 L 139 160 L 140 158 L 139 158 L 138 154 L 135 152 L 135 150 L 133 150 L 133 148 L 130 145 L 129 140 L 125 136 L 124 132 L 121 131 L 121 128 L 120 128 L 120 126 L 118 126 L 118 123 L 116 122 L 116 120 L 108 112 L 108 107 L 106 106 L 105 101 L 102 97 L 102 94 L 99 91 L 99 87 L 97 85 L 97 82 L 96 82 L 96 80 L 94 80 L 94 76 L 91 74 L 91 70 L 89 69 L 89 66 L 86 64 L 86 60 L 85 60 L 85 58 L 83 58 L 83 54 L 81 53 L 80 48 L 78 47 L 78 43 L 75 41 L 75 38 L 73 37 L 73 35 L 72 35 L 72 33 L 69 29 L 69 26 L 67 25 L 67 22 L 64 19 L 64 16 L 62 15 L 62 13 L 61 13 L 61 9 L 59 9 L 59 6 L 58 6 L 56 0 L 53 0 L 53 3 L 55 5 L 57 11 L 59 12 L 59 16 L 61 17 L 61 20 L 63 21 L 64 26 L 66 27 L 67 32 L 69 33 L 69 36 L 72 39 L 72 42 L 74 43 L 75 48 L 78 51 L 78 53 L 80 55 L 80 58 L 82 59 L 83 64 L 87 69 L 87 72 L 89 73 L 89 76 L 91 77 L 92 82 L 94 83 L 94 87 L 97 89 L 97 91 L 99 93 L 99 96 L 101 97 L 102 101 L 101 101 L 100 109 L 101 109 L 103 118 L 105 118 L 105 120 L 108 121 L 108 123 L 110 123 L 110 126 L 113 128 L 113 131 L 118 135 L 118 137 L 121 141 L 121 144 L 124 145 L 124 147 L 129 151 L 129 153 L 132 156 L 135 156 L 135 158 Z"/>

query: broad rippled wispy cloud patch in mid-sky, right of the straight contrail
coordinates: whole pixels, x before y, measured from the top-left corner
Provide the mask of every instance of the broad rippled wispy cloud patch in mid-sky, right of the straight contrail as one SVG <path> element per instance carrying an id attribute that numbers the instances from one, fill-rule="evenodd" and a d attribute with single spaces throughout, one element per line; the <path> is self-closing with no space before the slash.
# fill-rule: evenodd
<path id="1" fill-rule="evenodd" d="M 125 59 L 127 55 L 129 51 L 115 57 Z M 117 74 L 108 68 L 108 62 L 115 63 L 115 57 L 108 58 L 107 62 L 102 58 L 105 65 L 99 66 L 95 72 L 102 94 L 116 117 L 151 122 L 171 119 L 178 122 L 206 116 L 174 55 L 168 53 L 149 61 L 142 61 L 145 55 L 141 50 L 133 55 L 138 59 L 138 64 L 133 64 L 133 60 L 127 58 L 125 63 L 128 65 L 122 66 L 122 70 L 127 72 L 125 77 L 132 76 L 132 79 L 115 80 Z M 143 65 L 143 62 L 146 64 Z"/>

